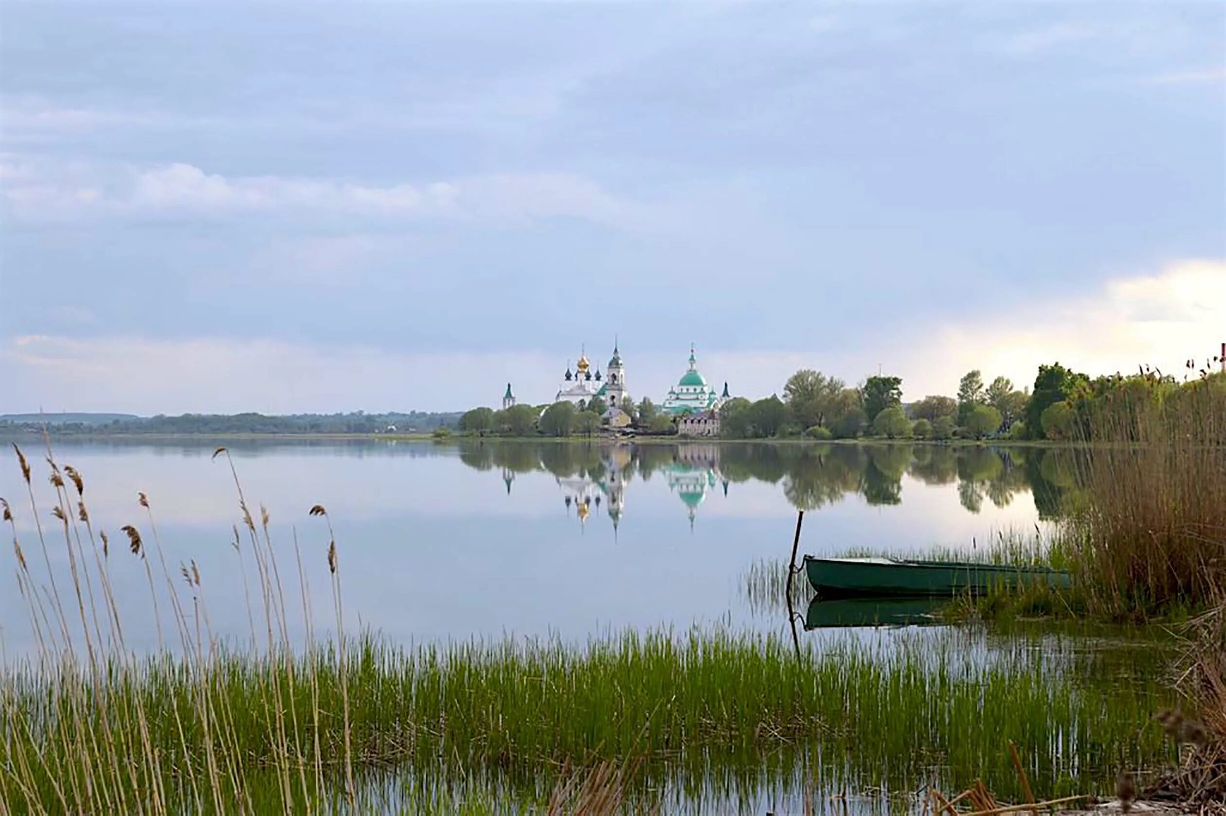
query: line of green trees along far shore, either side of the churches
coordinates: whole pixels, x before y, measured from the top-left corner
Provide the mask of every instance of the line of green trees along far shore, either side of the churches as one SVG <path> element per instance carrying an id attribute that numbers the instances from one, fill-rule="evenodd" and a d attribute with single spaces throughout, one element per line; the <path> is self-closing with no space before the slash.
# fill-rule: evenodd
<path id="1" fill-rule="evenodd" d="M 1216 369 L 1221 368 L 1221 372 Z M 721 440 L 755 441 L 894 441 L 965 444 L 1076 444 L 1094 434 L 1091 424 L 1105 406 L 1121 399 L 1148 399 L 1156 404 L 1179 399 L 1195 388 L 1226 390 L 1226 361 L 1219 357 L 1203 364 L 1189 360 L 1183 381 L 1145 366 L 1137 374 L 1090 377 L 1059 363 L 1040 365 L 1032 386 L 1015 388 L 1003 376 L 984 383 L 978 370 L 961 377 L 956 397 L 928 395 L 902 402 L 902 379 L 870 376 L 850 387 L 842 380 L 813 369 L 801 369 L 771 395 L 750 401 L 726 399 L 717 412 Z M 184 414 L 130 417 L 125 414 L 11 414 L 0 417 L 0 437 L 42 435 L 56 439 L 150 437 L 180 439 L 386 439 L 444 440 L 457 436 L 501 439 L 634 439 L 650 444 L 678 436 L 677 417 L 650 398 L 620 406 L 629 424 L 609 425 L 609 406 L 600 397 L 591 404 L 514 404 L 495 410 L 409 412 L 367 414 L 233 415 Z M 603 418 L 603 419 L 602 419 Z"/>

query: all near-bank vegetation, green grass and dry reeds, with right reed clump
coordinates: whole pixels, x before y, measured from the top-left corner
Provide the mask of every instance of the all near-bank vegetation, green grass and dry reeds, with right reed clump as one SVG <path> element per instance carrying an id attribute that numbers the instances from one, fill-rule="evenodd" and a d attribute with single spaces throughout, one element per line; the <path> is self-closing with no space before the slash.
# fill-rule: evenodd
<path id="1" fill-rule="evenodd" d="M 1045 608 L 1026 593 L 972 599 L 984 622 L 803 648 L 720 627 L 614 632 L 581 647 L 512 636 L 401 647 L 354 635 L 345 543 L 327 511 L 310 508 L 302 543 L 275 542 L 268 511 L 249 502 L 218 447 L 237 499 L 234 572 L 250 589 L 250 642 L 233 643 L 213 636 L 207 594 L 234 576 L 167 564 L 145 494 L 134 500 L 140 521 L 108 537 L 89 515 L 85 474 L 59 463 L 49 441 L 45 466 L 15 445 L 28 496 L 0 508 L 37 649 L 5 657 L 0 674 L 4 816 L 570 812 L 573 795 L 617 812 L 743 803 L 767 779 L 797 799 L 851 793 L 889 809 L 978 778 L 1022 800 L 1107 794 L 1132 774 L 1143 795 L 1220 804 L 1221 385 L 1145 379 L 1086 407 L 1079 441 L 1089 447 L 1070 459 L 1081 493 L 1049 540 L 1019 539 L 1011 555 L 1059 557 L 1080 605 Z M 50 502 L 39 499 L 44 479 Z M 25 513 L 33 528 L 26 518 L 18 527 Z M 1009 557 L 1013 544 L 1000 545 Z M 118 597 L 134 576 L 147 594 Z M 777 581 L 777 570 L 763 580 Z M 331 602 L 327 620 L 313 619 L 315 593 Z M 119 610 L 129 604 L 157 625 L 156 652 L 126 646 Z M 1146 647 L 1123 664 L 1053 648 L 1049 635 L 1000 652 L 997 638 L 976 640 L 993 618 L 1035 609 L 1150 629 L 1181 611 L 1192 620 L 1182 654 Z M 1009 744 L 1018 765 L 1002 750 Z"/>

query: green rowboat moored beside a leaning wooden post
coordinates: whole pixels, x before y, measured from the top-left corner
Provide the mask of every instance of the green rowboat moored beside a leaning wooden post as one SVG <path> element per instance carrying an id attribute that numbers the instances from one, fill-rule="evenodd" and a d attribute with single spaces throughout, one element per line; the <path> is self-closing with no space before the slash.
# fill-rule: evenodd
<path id="1" fill-rule="evenodd" d="M 1068 572 L 1047 567 L 962 561 L 895 559 L 815 559 L 804 556 L 804 573 L 819 595 L 960 595 L 993 587 L 1048 586 L 1067 589 Z"/>

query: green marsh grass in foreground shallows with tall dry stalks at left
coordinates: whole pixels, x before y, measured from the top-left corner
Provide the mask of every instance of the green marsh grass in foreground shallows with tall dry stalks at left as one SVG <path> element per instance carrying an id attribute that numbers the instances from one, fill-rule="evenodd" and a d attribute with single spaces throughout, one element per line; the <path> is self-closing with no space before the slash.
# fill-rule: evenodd
<path id="1" fill-rule="evenodd" d="M 959 659 L 956 638 L 939 648 L 847 640 L 797 654 L 786 640 L 720 629 L 623 632 L 579 648 L 508 638 L 408 649 L 347 636 L 343 550 L 327 512 L 311 508 L 313 542 L 299 546 L 295 534 L 297 575 L 286 571 L 268 512 L 250 510 L 218 448 L 223 457 L 240 518 L 234 572 L 250 580 L 245 646 L 215 637 L 204 589 L 221 577 L 166 562 L 143 494 L 134 512 L 148 535 L 128 524 L 126 550 L 112 548 L 89 518 L 83 477 L 48 450 L 56 524 L 36 528 L 47 573 L 2 506 L 37 644 L 0 675 L 5 816 L 400 810 L 386 804 L 389 778 L 444 812 L 472 796 L 479 810 L 482 790 L 497 791 L 489 810 L 641 811 L 664 790 L 736 799 L 771 779 L 912 791 L 982 776 L 1008 794 L 1009 740 L 1047 795 L 1101 788 L 1121 762 L 1168 751 L 1141 725 L 1166 703 L 1152 682 L 1090 684 L 1032 654 L 975 665 Z M 48 511 L 18 458 L 38 518 Z M 66 550 L 58 584 L 53 546 Z M 303 559 L 329 567 L 330 640 L 314 636 Z M 148 595 L 116 598 L 121 571 L 143 576 Z M 299 600 L 305 643 L 289 635 Z M 156 652 L 126 646 L 120 604 L 168 619 Z"/>

